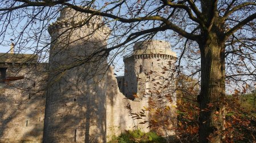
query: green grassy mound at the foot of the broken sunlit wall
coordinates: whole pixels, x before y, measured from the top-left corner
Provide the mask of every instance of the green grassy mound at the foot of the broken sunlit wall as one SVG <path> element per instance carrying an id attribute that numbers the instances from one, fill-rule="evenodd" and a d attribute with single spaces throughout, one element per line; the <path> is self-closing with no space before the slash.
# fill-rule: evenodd
<path id="1" fill-rule="evenodd" d="M 122 133 L 120 136 L 112 137 L 112 140 L 108 143 L 135 143 L 135 142 L 141 142 L 141 143 L 165 143 L 166 140 L 156 135 L 154 132 L 148 132 L 144 133 L 140 130 L 135 131 L 126 131 L 125 133 Z"/>

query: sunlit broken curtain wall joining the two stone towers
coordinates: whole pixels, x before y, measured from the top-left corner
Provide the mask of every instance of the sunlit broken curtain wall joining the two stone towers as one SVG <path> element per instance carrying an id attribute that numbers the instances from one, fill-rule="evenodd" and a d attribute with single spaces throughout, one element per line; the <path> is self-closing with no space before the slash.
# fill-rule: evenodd
<path id="1" fill-rule="evenodd" d="M 117 79 L 114 76 L 113 69 L 110 68 L 106 78 L 106 133 L 107 141 L 112 136 L 118 136 L 127 130 L 141 129 L 148 132 L 148 123 L 139 124 L 144 122 L 143 119 L 133 119 L 130 112 L 142 112 L 142 109 L 148 107 L 148 101 L 132 101 L 127 99 L 117 86 Z M 130 105 L 131 110 L 126 108 Z M 146 118 L 149 117 L 148 111 L 145 111 Z"/>

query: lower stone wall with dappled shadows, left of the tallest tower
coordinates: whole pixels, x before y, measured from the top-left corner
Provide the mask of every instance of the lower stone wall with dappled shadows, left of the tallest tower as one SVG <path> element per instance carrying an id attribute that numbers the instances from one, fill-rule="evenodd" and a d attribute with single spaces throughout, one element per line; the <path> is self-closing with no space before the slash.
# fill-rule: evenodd
<path id="1" fill-rule="evenodd" d="M 42 142 L 47 64 L 1 63 L 0 142 Z M 11 77 L 24 79 L 11 80 Z"/>

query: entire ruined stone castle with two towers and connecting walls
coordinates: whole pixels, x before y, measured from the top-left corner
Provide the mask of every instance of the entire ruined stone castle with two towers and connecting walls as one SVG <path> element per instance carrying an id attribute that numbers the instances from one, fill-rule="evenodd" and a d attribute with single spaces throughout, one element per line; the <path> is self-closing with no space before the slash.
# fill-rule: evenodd
<path id="1" fill-rule="evenodd" d="M 107 142 L 125 130 L 150 131 L 140 123 L 159 115 L 147 109 L 167 106 L 164 119 L 173 124 L 158 132 L 172 133 L 176 54 L 168 42 L 137 42 L 123 58 L 125 75 L 115 77 L 100 16 L 64 8 L 48 31 L 48 63 L 35 54 L 0 54 L 0 142 Z"/>

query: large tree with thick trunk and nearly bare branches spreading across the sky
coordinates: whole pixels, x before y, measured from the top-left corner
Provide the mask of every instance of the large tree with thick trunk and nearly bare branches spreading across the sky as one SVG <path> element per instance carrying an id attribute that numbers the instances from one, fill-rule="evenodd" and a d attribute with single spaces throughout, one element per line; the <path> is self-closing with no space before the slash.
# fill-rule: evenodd
<path id="1" fill-rule="evenodd" d="M 179 66 L 187 57 L 186 61 L 196 66 L 193 72 L 200 73 L 199 140 L 224 140 L 225 84 L 255 80 L 254 0 L 2 1 L 1 45 L 8 45 L 11 37 L 20 50 L 47 52 L 46 29 L 62 7 L 105 18 L 102 24 L 112 31 L 109 46 L 93 55 L 122 54 L 127 45 L 139 39 L 157 37 L 176 42 L 181 50 Z M 81 27 L 86 20 L 74 26 Z"/>

